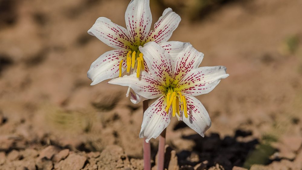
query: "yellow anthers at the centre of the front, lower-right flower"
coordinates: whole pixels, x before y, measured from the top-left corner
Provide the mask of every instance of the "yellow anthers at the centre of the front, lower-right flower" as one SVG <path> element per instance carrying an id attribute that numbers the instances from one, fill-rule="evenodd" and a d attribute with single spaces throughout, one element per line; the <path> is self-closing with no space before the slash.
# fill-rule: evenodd
<path id="1" fill-rule="evenodd" d="M 179 101 L 179 99 L 180 99 L 180 101 Z M 173 117 L 175 116 L 175 113 L 177 113 L 178 116 L 180 116 L 180 114 L 179 114 L 179 105 L 180 105 L 182 112 L 185 114 L 185 117 L 188 118 L 186 97 L 183 96 L 181 92 L 173 91 L 173 88 L 168 87 L 167 107 L 165 108 L 165 111 L 167 113 L 168 113 L 171 105 L 172 105 L 172 116 Z"/>

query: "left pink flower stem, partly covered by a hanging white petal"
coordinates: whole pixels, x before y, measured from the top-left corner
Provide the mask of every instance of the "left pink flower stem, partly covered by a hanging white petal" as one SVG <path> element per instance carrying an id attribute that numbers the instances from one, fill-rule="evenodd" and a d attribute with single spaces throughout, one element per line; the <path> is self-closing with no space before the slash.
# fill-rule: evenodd
<path id="1" fill-rule="evenodd" d="M 143 113 L 145 113 L 148 107 L 149 107 L 149 100 L 144 100 Z M 150 147 L 150 143 L 146 142 L 146 138 L 144 138 L 143 153 L 144 153 L 144 170 L 151 170 L 151 147 Z"/>

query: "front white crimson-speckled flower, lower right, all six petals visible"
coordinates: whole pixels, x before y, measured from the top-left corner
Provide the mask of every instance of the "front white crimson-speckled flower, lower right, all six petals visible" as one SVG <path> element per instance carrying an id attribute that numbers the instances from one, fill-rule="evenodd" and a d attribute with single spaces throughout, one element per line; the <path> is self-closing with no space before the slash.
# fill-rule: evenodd
<path id="1" fill-rule="evenodd" d="M 145 137 L 148 142 L 158 137 L 169 125 L 171 116 L 177 116 L 204 136 L 211 120 L 194 96 L 209 93 L 221 79 L 228 77 L 226 67 L 198 67 L 204 55 L 189 43 L 169 50 L 149 42 L 139 50 L 149 72 L 143 71 L 140 80 L 131 74 L 112 79 L 109 83 L 128 86 L 147 99 L 159 97 L 144 113 L 140 138 Z"/>

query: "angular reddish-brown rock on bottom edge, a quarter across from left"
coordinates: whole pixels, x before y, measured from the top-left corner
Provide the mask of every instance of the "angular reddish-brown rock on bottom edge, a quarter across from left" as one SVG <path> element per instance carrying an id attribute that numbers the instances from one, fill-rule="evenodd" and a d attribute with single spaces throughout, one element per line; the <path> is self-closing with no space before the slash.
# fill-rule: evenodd
<path id="1" fill-rule="evenodd" d="M 80 170 L 83 168 L 86 160 L 85 156 L 71 153 L 66 159 L 56 164 L 55 168 L 61 170 Z"/>

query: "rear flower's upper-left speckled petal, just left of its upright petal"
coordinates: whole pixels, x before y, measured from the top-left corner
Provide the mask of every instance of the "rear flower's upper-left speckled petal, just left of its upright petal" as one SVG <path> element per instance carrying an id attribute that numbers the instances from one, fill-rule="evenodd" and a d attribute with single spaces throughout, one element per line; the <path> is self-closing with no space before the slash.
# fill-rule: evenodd
<path id="1" fill-rule="evenodd" d="M 88 34 L 115 49 L 130 49 L 133 46 L 127 30 L 105 17 L 98 18 L 88 30 Z"/>

